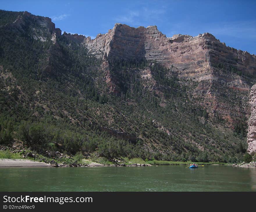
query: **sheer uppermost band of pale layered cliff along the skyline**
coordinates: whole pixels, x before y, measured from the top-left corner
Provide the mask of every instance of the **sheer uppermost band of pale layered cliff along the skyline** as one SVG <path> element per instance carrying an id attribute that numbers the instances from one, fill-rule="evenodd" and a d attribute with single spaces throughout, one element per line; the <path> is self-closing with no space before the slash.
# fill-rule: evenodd
<path id="1" fill-rule="evenodd" d="M 205 80 L 202 70 L 219 63 L 232 65 L 245 73 L 256 71 L 255 55 L 227 47 L 209 33 L 196 37 L 180 34 L 166 37 L 156 26 L 133 28 L 115 24 L 108 33 L 99 34 L 93 40 L 85 38 L 83 43 L 92 53 L 106 54 L 109 60 L 157 60 L 167 67 L 177 67 L 180 76 L 198 80 Z"/>

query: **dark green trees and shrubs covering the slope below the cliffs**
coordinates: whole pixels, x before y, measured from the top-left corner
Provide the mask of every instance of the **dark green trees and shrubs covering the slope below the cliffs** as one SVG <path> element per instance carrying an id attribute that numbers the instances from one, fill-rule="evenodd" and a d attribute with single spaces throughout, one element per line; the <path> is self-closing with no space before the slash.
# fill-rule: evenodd
<path id="1" fill-rule="evenodd" d="M 5 13 L 1 10 L 0 17 Z M 233 130 L 217 114 L 209 117 L 188 92 L 196 82 L 178 78 L 175 69 L 157 61 L 109 60 L 118 90 L 113 94 L 102 59 L 65 36 L 58 38 L 59 46 L 50 37 L 34 39 L 34 27 L 40 31 L 28 20 L 25 34 L 0 30 L 1 145 L 20 140 L 39 154 L 61 151 L 77 158 L 80 152 L 97 152 L 108 159 L 243 160 L 245 121 Z M 141 78 L 145 70 L 150 79 Z M 136 141 L 103 127 L 134 135 Z"/>

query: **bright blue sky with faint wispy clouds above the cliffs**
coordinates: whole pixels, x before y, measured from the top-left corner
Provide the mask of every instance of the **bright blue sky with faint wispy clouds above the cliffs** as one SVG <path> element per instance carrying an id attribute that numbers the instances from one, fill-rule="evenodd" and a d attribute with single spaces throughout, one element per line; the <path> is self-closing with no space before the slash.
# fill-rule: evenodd
<path id="1" fill-rule="evenodd" d="M 227 46 L 256 55 L 256 1 L 3 1 L 0 9 L 50 17 L 62 32 L 94 38 L 115 23 L 156 25 L 167 37 L 209 32 Z"/>

